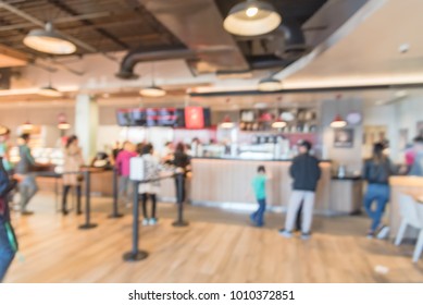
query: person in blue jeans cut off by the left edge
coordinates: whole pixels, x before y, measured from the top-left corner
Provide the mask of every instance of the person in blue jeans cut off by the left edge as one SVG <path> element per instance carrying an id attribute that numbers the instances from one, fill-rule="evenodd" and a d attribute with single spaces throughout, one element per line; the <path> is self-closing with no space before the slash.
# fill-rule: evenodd
<path id="1" fill-rule="evenodd" d="M 0 283 L 17 251 L 17 242 L 10 223 L 8 193 L 14 188 L 16 181 L 10 181 L 0 157 Z"/>

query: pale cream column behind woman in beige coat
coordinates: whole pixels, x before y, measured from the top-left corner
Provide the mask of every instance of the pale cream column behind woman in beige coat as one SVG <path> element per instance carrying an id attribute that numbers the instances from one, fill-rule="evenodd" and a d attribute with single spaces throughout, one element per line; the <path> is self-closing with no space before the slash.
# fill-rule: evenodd
<path id="1" fill-rule="evenodd" d="M 99 124 L 99 109 L 97 101 L 90 95 L 76 96 L 75 103 L 75 133 L 83 148 L 85 163 L 89 163 L 97 152 L 97 129 Z"/>

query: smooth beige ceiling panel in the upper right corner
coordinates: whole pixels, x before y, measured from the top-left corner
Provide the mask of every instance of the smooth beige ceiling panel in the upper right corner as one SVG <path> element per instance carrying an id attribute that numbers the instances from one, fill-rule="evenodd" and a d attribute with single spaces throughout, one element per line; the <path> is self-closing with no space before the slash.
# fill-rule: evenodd
<path id="1" fill-rule="evenodd" d="M 378 7 L 373 10 L 371 4 Z M 373 12 L 368 14 L 370 10 Z M 421 0 L 369 1 L 356 20 L 350 20 L 357 23 L 353 30 L 322 49 L 308 64 L 293 64 L 294 73 L 284 83 L 293 87 L 423 83 L 422 11 Z M 401 52 L 400 48 L 408 50 Z"/>

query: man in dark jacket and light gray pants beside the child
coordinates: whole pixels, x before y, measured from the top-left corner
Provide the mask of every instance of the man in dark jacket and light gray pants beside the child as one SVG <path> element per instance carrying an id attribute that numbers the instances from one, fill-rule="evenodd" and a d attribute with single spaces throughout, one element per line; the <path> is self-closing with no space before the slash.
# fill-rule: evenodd
<path id="1" fill-rule="evenodd" d="M 315 188 L 321 176 L 321 169 L 319 160 L 310 155 L 310 142 L 301 142 L 298 149 L 300 154 L 294 158 L 289 168 L 290 176 L 294 179 L 293 193 L 289 198 L 285 229 L 279 230 L 279 234 L 288 239 L 293 236 L 297 212 L 302 202 L 301 239 L 308 240 L 310 239 Z"/>

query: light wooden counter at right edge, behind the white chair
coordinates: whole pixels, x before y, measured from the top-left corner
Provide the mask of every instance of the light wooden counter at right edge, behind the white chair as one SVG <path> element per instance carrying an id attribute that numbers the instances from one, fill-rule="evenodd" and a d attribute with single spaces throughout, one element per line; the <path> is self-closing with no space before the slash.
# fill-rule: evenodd
<path id="1" fill-rule="evenodd" d="M 401 213 L 399 210 L 400 194 L 411 195 L 413 197 L 423 196 L 423 178 L 410 175 L 396 175 L 389 179 L 390 184 L 390 209 L 389 209 L 389 227 L 390 237 L 397 235 L 399 225 L 401 224 Z M 409 229 L 405 235 L 406 239 L 415 239 L 416 231 Z"/>

